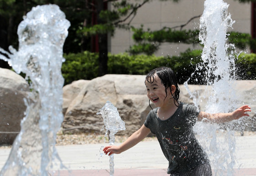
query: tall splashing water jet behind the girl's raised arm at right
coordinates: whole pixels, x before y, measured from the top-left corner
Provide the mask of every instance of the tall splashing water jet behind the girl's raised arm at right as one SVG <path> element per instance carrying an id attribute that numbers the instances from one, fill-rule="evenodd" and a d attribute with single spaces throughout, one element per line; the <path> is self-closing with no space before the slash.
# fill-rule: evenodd
<path id="1" fill-rule="evenodd" d="M 233 111 L 241 103 L 236 100 L 232 81 L 235 79 L 235 58 L 232 51 L 235 47 L 226 43 L 227 30 L 232 28 L 235 22 L 228 14 L 228 7 L 223 0 L 205 0 L 203 15 L 200 18 L 199 39 L 204 45 L 203 64 L 198 65 L 196 70 L 204 70 L 203 81 L 211 88 L 205 91 L 209 97 L 205 109 L 209 113 Z M 188 81 L 184 85 L 193 97 L 194 104 L 199 106 L 203 95 L 196 99 L 196 92 L 193 94 L 188 89 Z M 223 129 L 221 125 L 197 122 L 194 126 L 194 131 L 203 139 L 199 141 L 207 151 L 216 175 L 233 175 L 235 136 L 231 131 L 234 127 L 232 123 L 225 124 L 224 138 L 216 135 L 217 130 Z"/>

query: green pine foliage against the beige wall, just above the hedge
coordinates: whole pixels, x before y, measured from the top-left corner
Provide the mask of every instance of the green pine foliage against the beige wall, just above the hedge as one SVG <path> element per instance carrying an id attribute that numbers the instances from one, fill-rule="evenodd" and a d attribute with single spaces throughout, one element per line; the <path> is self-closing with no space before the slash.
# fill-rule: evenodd
<path id="1" fill-rule="evenodd" d="M 187 43 L 199 44 L 199 30 L 173 30 L 171 28 L 162 28 L 161 30 L 145 31 L 143 25 L 140 28 L 131 27 L 133 31 L 133 40 L 135 44 L 130 46 L 129 52 L 132 55 L 144 53 L 152 55 L 159 49 L 161 43 Z M 252 39 L 250 34 L 240 32 L 229 32 L 228 42 L 235 44 L 236 48 L 241 50 L 249 47 L 251 50 L 256 50 L 256 39 Z"/>

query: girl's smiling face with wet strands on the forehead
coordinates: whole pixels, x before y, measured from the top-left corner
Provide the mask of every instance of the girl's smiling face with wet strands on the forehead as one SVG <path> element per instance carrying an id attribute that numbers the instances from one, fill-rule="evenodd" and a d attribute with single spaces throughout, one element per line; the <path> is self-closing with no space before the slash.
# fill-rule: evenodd
<path id="1" fill-rule="evenodd" d="M 150 101 L 152 101 L 155 106 L 161 107 L 164 106 L 167 100 L 171 98 L 170 88 L 165 92 L 165 86 L 162 84 L 158 75 L 154 75 L 154 78 L 151 80 L 145 80 L 145 85 L 147 88 L 147 96 Z"/>

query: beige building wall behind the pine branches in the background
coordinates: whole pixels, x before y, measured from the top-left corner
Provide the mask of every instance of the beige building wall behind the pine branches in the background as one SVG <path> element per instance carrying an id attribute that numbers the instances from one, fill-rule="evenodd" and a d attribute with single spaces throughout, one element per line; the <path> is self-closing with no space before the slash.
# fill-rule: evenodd
<path id="1" fill-rule="evenodd" d="M 136 0 L 137 1 L 137 0 Z M 251 33 L 251 3 L 239 3 L 238 0 L 224 0 L 229 4 L 228 12 L 231 14 L 233 30 Z M 131 25 L 144 30 L 160 30 L 164 26 L 174 27 L 187 23 L 192 17 L 201 15 L 204 9 L 204 0 L 180 0 L 175 3 L 172 0 L 152 0 L 141 7 Z M 183 29 L 199 29 L 199 18 L 192 20 Z M 178 29 L 178 28 L 177 28 Z M 112 54 L 123 53 L 134 44 L 132 31 L 117 29 L 115 35 L 109 40 L 109 51 Z M 163 43 L 155 55 L 178 55 L 187 48 L 196 49 L 197 45 Z"/>

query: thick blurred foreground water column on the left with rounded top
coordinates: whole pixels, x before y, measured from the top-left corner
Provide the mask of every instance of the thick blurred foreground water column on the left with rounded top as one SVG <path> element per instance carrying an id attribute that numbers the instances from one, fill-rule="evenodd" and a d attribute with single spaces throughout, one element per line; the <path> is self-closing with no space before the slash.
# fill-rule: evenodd
<path id="1" fill-rule="evenodd" d="M 70 23 L 57 5 L 33 7 L 18 26 L 19 50 L 0 48 L 0 59 L 30 79 L 32 92 L 10 156 L 1 176 L 47 176 L 55 157 L 57 131 L 63 121 L 61 65 Z M 60 159 L 59 159 L 60 161 Z"/>

